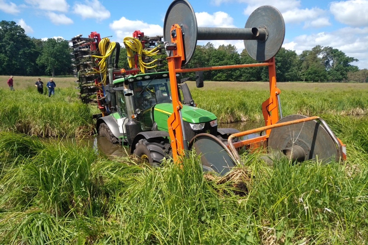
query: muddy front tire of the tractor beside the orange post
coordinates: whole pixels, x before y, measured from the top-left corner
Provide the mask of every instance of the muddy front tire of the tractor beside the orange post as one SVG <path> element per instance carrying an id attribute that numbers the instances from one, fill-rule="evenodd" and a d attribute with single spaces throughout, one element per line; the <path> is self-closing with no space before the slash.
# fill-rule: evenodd
<path id="1" fill-rule="evenodd" d="M 169 143 L 165 144 L 153 139 L 141 139 L 135 145 L 133 153 L 151 166 L 159 167 L 163 160 L 170 155 L 170 153 L 169 155 L 166 154 L 166 152 L 169 152 L 169 149 L 171 149 Z"/>

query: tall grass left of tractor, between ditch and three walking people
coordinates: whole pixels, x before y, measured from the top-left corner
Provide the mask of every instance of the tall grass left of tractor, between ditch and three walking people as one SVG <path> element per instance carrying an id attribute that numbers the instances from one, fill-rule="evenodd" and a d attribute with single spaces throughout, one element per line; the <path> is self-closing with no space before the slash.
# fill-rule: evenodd
<path id="1" fill-rule="evenodd" d="M 0 89 L 0 131 L 39 137 L 75 137 L 93 133 L 92 114 L 75 90 L 56 90 L 55 96 L 38 94 L 34 88 Z"/>

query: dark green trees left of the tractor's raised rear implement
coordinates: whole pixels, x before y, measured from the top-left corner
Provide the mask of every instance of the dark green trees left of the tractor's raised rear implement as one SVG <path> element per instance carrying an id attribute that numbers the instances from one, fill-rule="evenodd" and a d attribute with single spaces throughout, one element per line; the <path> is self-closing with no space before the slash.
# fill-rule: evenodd
<path id="1" fill-rule="evenodd" d="M 67 40 L 31 38 L 14 21 L 0 22 L 0 75 L 69 75 L 70 52 Z"/>

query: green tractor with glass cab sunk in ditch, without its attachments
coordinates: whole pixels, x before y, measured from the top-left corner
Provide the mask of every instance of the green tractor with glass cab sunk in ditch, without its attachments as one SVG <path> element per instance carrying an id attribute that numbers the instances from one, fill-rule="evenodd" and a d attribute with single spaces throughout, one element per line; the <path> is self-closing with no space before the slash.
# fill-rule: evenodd
<path id="1" fill-rule="evenodd" d="M 203 86 L 202 74 L 196 75 L 197 87 Z M 183 104 L 181 114 L 185 138 L 192 139 L 208 133 L 227 142 L 236 129 L 217 127 L 216 116 L 196 107 L 185 83 L 189 78 L 177 79 L 177 88 L 170 87 L 169 72 L 129 75 L 113 81 L 113 88 L 106 92 L 116 101 L 115 112 L 97 119 L 100 136 L 112 143 L 130 145 L 131 153 L 146 159 L 152 165 L 170 157 L 171 144 L 167 120 L 173 113 L 172 89 L 180 90 Z"/>

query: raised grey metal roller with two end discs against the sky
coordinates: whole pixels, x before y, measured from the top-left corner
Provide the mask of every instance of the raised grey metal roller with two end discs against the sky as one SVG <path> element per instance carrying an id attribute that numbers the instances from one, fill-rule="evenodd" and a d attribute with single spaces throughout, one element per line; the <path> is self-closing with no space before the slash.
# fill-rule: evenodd
<path id="1" fill-rule="evenodd" d="M 285 36 L 284 19 L 272 6 L 262 6 L 252 12 L 245 28 L 198 27 L 190 3 L 175 0 L 167 9 L 164 19 L 166 42 L 171 42 L 170 30 L 174 24 L 180 25 L 183 32 L 185 61 L 182 66 L 192 58 L 197 40 L 244 40 L 244 46 L 254 60 L 266 61 L 280 50 Z"/>

